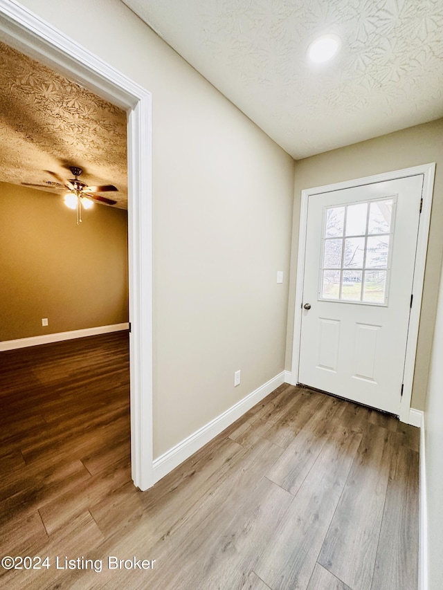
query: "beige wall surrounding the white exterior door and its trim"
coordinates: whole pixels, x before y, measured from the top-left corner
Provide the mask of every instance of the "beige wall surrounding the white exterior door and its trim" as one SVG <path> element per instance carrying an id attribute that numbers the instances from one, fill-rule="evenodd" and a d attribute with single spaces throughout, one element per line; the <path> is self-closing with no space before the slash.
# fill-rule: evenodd
<path id="1" fill-rule="evenodd" d="M 417 125 L 296 163 L 286 368 L 291 369 L 300 194 L 303 189 L 401 168 L 437 163 L 412 407 L 424 409 L 443 249 L 443 119 Z"/>

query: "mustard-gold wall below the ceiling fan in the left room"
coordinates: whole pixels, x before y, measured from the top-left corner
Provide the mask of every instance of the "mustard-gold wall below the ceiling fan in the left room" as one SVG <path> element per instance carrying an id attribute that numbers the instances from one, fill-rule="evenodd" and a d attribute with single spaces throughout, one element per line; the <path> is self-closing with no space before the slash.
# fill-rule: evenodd
<path id="1" fill-rule="evenodd" d="M 126 211 L 76 225 L 62 197 L 0 183 L 0 219 L 0 340 L 128 321 Z"/>

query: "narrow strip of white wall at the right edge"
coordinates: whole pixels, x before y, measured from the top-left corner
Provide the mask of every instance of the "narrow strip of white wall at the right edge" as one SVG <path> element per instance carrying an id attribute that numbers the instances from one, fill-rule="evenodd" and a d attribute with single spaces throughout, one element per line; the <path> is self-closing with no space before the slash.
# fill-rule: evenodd
<path id="1" fill-rule="evenodd" d="M 424 413 L 428 528 L 428 589 L 443 588 L 443 274 Z"/>

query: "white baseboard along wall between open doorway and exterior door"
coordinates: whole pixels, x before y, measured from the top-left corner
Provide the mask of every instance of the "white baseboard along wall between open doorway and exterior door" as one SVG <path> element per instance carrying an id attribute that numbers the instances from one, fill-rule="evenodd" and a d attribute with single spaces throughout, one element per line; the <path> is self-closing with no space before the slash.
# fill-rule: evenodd
<path id="1" fill-rule="evenodd" d="M 256 403 L 259 403 L 263 398 L 268 396 L 279 385 L 285 382 L 285 371 L 264 383 L 258 389 L 255 389 L 251 394 L 243 398 L 235 405 L 231 406 L 226 412 L 208 422 L 208 424 L 199 428 L 196 432 L 188 436 L 187 439 L 175 445 L 172 449 L 165 452 L 161 457 L 154 460 L 154 483 L 159 481 L 166 474 L 171 472 L 177 465 L 183 463 L 188 457 L 198 451 L 201 447 L 206 445 L 217 434 L 220 434 L 225 428 L 235 422 L 240 416 L 243 416 L 248 409 L 251 409 Z"/>

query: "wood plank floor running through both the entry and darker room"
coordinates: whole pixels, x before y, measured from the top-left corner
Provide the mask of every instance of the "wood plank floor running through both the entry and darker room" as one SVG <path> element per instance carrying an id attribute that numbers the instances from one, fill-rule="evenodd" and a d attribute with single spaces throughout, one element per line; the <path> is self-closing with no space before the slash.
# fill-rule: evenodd
<path id="1" fill-rule="evenodd" d="M 0 362 L 1 588 L 417 589 L 418 429 L 282 385 L 141 492 L 126 333 Z"/>

